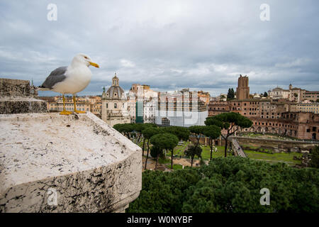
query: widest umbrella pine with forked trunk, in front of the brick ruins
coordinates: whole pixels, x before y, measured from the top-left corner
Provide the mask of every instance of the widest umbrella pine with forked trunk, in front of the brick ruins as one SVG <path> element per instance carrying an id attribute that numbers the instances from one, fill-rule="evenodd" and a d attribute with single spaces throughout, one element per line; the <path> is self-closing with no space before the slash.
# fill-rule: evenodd
<path id="1" fill-rule="evenodd" d="M 216 116 L 210 116 L 206 118 L 206 126 L 216 125 L 220 129 L 225 129 L 226 133 L 222 138 L 225 140 L 225 157 L 227 156 L 228 138 L 233 135 L 240 128 L 250 128 L 252 126 L 252 121 L 249 118 L 242 116 L 238 113 L 230 112 L 218 114 Z"/>

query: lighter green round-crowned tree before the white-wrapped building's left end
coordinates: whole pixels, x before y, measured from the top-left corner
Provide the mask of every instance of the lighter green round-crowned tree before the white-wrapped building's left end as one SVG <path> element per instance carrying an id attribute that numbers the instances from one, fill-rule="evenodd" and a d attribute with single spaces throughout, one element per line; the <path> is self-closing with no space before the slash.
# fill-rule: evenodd
<path id="1" fill-rule="evenodd" d="M 162 148 L 166 150 L 171 150 L 171 169 L 173 170 L 173 155 L 174 148 L 179 143 L 179 138 L 176 135 L 171 133 L 160 133 L 153 135 L 150 138 L 152 145 L 155 145 L 157 148 Z"/>

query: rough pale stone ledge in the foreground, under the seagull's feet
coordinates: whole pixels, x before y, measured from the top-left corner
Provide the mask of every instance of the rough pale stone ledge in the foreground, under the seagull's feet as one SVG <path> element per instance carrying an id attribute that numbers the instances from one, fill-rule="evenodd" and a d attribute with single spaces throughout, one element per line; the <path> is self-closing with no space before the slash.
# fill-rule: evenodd
<path id="1" fill-rule="evenodd" d="M 0 212 L 119 212 L 140 193 L 141 149 L 94 114 L 0 115 L 0 126 Z"/>

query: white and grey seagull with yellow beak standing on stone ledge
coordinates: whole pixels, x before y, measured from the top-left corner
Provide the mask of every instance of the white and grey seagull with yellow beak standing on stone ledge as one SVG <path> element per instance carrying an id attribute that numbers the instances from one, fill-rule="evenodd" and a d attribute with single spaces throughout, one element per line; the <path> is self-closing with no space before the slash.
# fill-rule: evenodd
<path id="1" fill-rule="evenodd" d="M 74 112 L 77 114 L 85 114 L 85 111 L 78 111 L 75 102 L 77 92 L 81 92 L 89 85 L 92 73 L 89 66 L 99 68 L 99 65 L 92 62 L 91 57 L 82 53 L 73 57 L 71 65 L 58 67 L 53 70 L 50 75 L 45 79 L 45 82 L 38 87 L 40 91 L 53 91 L 62 94 L 63 111 L 62 115 L 72 114 L 71 111 L 65 110 L 65 94 L 73 95 Z"/>

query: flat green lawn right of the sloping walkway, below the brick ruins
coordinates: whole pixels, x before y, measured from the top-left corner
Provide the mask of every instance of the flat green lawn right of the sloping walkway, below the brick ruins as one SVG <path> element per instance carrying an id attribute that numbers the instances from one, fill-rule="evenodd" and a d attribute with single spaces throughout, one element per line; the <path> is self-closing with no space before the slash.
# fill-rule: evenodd
<path id="1" fill-rule="evenodd" d="M 275 153 L 267 154 L 261 153 L 254 150 L 245 150 L 248 157 L 254 160 L 264 160 L 266 162 L 286 162 L 289 165 L 300 164 L 301 161 L 293 160 L 293 156 L 301 157 L 301 153 Z"/>

